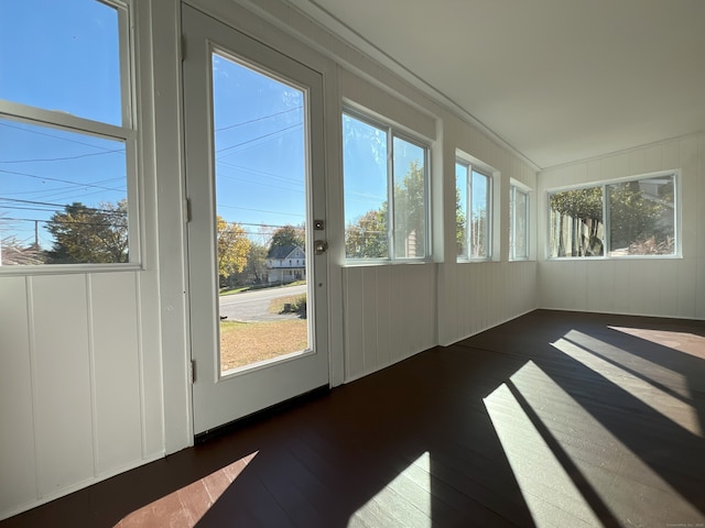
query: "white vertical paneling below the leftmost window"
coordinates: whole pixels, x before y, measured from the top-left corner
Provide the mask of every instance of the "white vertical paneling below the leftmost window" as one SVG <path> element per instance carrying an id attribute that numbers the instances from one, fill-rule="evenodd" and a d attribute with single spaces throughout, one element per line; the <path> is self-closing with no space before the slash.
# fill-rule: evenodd
<path id="1" fill-rule="evenodd" d="M 158 324 L 141 282 L 0 278 L 0 518 L 162 454 Z"/>

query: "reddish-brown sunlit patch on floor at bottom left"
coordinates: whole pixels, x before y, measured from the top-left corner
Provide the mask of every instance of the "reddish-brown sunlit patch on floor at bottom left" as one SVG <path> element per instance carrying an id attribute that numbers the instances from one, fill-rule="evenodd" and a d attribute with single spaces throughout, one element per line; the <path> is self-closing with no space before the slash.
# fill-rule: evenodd
<path id="1" fill-rule="evenodd" d="M 199 481 L 132 512 L 120 520 L 115 528 L 144 526 L 195 527 L 258 452 L 254 451 Z"/>

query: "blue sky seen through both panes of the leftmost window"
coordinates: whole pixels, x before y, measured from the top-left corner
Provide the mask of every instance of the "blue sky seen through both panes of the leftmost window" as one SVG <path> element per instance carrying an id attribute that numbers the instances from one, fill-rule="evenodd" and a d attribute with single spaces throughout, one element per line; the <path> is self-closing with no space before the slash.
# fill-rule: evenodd
<path id="1" fill-rule="evenodd" d="M 117 11 L 95 1 L 0 2 L 0 99 L 121 124 Z M 98 96 L 97 96 L 98 95 Z M 126 196 L 120 141 L 0 117 L 0 234 L 51 245 L 73 201 Z"/>

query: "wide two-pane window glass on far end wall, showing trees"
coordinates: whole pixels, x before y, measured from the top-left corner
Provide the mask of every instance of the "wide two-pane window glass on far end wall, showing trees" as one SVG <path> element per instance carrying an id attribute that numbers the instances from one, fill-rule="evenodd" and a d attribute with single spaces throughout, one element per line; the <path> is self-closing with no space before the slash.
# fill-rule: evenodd
<path id="1" fill-rule="evenodd" d="M 672 173 L 549 193 L 549 256 L 676 253 Z"/>

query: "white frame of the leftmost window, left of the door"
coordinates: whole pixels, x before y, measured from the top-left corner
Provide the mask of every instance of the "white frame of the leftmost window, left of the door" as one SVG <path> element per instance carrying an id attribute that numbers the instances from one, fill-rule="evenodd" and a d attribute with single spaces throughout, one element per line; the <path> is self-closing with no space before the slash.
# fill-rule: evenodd
<path id="1" fill-rule="evenodd" d="M 0 99 L 0 118 L 46 129 L 118 141 L 124 144 L 128 207 L 128 262 L 0 265 L 2 275 L 39 275 L 140 270 L 143 264 L 139 193 L 138 86 L 134 9 L 130 0 L 95 0 L 117 12 L 120 78 L 120 125 Z"/>

